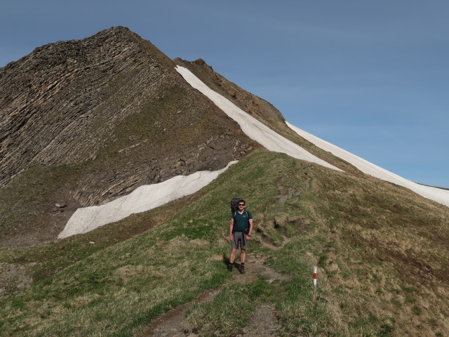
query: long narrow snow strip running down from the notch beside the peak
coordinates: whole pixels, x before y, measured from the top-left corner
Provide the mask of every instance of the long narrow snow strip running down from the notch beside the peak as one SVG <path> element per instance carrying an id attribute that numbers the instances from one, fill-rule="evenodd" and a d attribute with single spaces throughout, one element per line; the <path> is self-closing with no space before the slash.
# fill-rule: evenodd
<path id="1" fill-rule="evenodd" d="M 203 93 L 203 95 L 206 95 L 206 97 L 212 100 L 217 107 L 220 107 L 225 114 L 239 123 L 241 130 L 246 134 L 246 136 L 255 140 L 257 143 L 260 143 L 260 145 L 267 148 L 267 150 L 282 152 L 296 159 L 311 161 L 321 166 L 326 166 L 330 169 L 342 171 L 328 162 L 323 161 L 323 159 L 319 159 L 287 138 L 279 135 L 279 133 L 276 133 L 260 121 L 257 121 L 257 119 L 241 110 L 227 98 L 223 97 L 219 93 L 216 93 L 206 86 L 206 84 L 203 84 L 203 82 L 192 74 L 192 72 L 190 72 L 187 68 L 180 67 L 178 65 L 176 70 L 192 87 Z"/>

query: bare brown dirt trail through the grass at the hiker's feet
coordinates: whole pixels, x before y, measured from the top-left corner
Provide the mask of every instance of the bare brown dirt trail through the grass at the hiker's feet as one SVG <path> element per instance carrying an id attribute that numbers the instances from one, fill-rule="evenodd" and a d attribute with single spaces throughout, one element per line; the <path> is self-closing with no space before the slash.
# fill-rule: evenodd
<path id="1" fill-rule="evenodd" d="M 225 265 L 223 266 L 225 267 Z M 257 254 L 248 254 L 246 256 L 245 264 L 246 274 L 242 275 L 236 268 L 233 270 L 234 277 L 232 280 L 224 284 L 220 289 L 213 289 L 202 293 L 196 300 L 181 305 L 164 315 L 161 315 L 158 319 L 155 319 L 145 331 L 143 331 L 141 337 L 195 337 L 198 336 L 195 333 L 190 333 L 184 330 L 185 313 L 187 309 L 194 303 L 203 303 L 211 301 L 217 296 L 222 288 L 229 284 L 236 282 L 249 283 L 257 280 L 258 275 L 267 277 L 267 282 L 274 282 L 275 279 L 286 279 L 285 275 L 279 274 L 272 268 L 264 265 L 264 256 Z M 253 317 L 250 320 L 248 326 L 243 329 L 243 334 L 238 335 L 241 337 L 260 337 L 260 336 L 277 336 L 277 332 L 281 329 L 278 323 L 276 315 L 274 313 L 274 305 L 262 304 L 258 305 L 253 312 Z"/>

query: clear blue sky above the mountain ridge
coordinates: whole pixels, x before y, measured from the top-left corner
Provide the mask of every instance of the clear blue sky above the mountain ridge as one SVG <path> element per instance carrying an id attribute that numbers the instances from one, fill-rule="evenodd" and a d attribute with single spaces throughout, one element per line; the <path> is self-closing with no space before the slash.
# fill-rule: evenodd
<path id="1" fill-rule="evenodd" d="M 203 58 L 290 123 L 417 183 L 449 187 L 449 1 L 2 0 L 0 67 L 125 26 Z"/>

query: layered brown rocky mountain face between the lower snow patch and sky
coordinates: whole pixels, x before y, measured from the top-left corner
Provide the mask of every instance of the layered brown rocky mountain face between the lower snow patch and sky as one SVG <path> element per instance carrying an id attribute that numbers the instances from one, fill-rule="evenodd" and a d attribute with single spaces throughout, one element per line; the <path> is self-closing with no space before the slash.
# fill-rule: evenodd
<path id="1" fill-rule="evenodd" d="M 0 69 L 0 88 L 0 246 L 53 239 L 79 206 L 258 146 L 124 27 L 36 48 Z"/>

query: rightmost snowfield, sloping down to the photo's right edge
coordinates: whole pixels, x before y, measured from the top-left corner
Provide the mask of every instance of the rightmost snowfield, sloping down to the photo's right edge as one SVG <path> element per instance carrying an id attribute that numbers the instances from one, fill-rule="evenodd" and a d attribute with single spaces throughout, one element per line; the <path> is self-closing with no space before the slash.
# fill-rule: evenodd
<path id="1" fill-rule="evenodd" d="M 286 124 L 302 138 L 309 140 L 310 143 L 313 143 L 314 145 L 320 147 L 321 149 L 328 151 L 334 154 L 335 156 L 347 161 L 348 163 L 356 166 L 356 168 L 362 171 L 363 173 L 369 174 L 370 176 L 373 176 L 375 178 L 380 178 L 382 180 L 389 181 L 390 183 L 394 183 L 396 185 L 406 187 L 409 190 L 412 190 L 413 192 L 420 194 L 422 197 L 434 200 L 445 206 L 449 206 L 448 190 L 441 190 L 441 188 L 424 186 L 417 183 L 413 183 L 413 181 L 407 180 L 406 178 L 402 178 L 401 176 L 398 176 L 397 174 L 387 171 L 386 169 L 382 169 L 382 167 L 372 164 L 369 161 L 362 159 L 361 157 L 357 157 L 355 154 L 351 154 L 350 152 L 347 152 L 346 150 L 343 150 L 340 147 L 328 143 L 326 142 L 326 140 L 322 140 L 321 138 L 311 135 L 310 133 L 307 133 L 306 131 L 297 128 L 296 126 L 293 126 L 287 121 Z"/>

